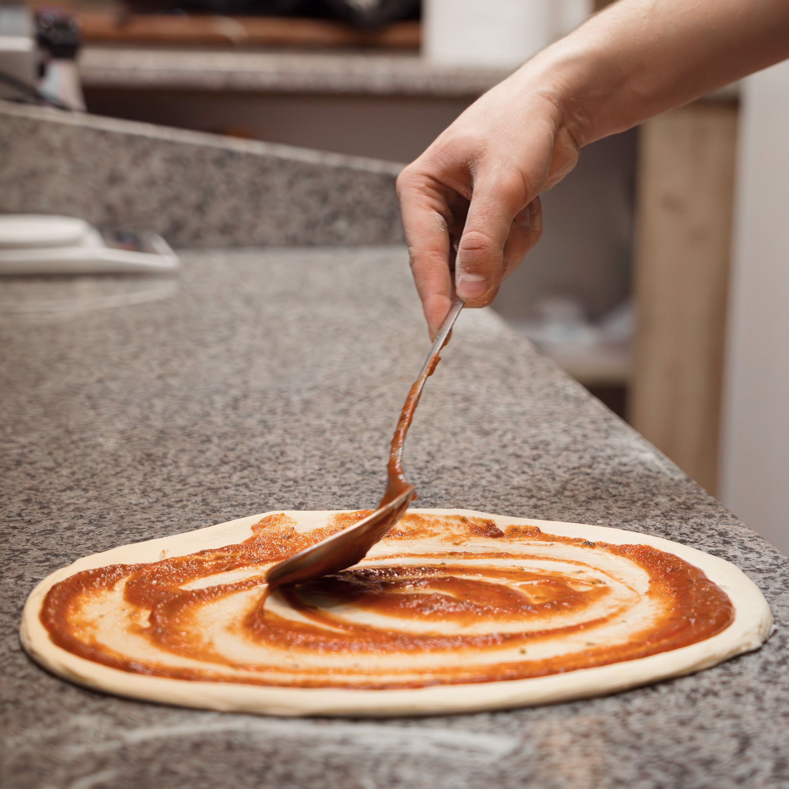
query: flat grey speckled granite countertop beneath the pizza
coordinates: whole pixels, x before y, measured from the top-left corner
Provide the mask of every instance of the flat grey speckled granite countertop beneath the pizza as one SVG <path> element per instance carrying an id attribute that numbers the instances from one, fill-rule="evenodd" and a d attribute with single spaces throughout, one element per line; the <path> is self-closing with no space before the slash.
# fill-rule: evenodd
<path id="1" fill-rule="evenodd" d="M 761 651 L 612 697 L 278 720 L 82 690 L 24 656 L 41 578 L 279 508 L 369 507 L 427 348 L 399 248 L 191 252 L 177 279 L 0 282 L 4 789 L 789 786 L 789 560 L 507 329 L 465 312 L 417 411 L 426 507 L 614 525 L 742 567 Z"/>

